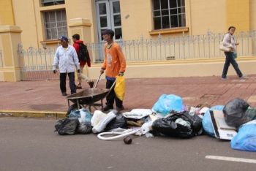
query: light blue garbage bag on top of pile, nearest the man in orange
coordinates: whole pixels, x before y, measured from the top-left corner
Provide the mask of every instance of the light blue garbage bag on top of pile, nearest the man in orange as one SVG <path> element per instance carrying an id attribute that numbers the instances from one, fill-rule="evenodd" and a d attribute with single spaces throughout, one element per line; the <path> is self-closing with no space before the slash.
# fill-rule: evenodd
<path id="1" fill-rule="evenodd" d="M 157 113 L 167 115 L 170 111 L 181 112 L 183 109 L 183 101 L 180 96 L 174 94 L 162 94 L 157 102 L 152 107 L 152 110 Z"/>

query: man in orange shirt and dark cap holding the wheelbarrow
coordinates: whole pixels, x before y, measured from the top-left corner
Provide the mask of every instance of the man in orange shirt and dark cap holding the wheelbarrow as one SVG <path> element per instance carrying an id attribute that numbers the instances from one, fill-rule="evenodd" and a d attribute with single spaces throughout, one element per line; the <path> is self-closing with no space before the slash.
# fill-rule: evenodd
<path id="1" fill-rule="evenodd" d="M 124 75 L 126 69 L 126 61 L 124 54 L 121 50 L 120 45 L 113 41 L 114 31 L 106 29 L 102 32 L 103 39 L 107 42 L 105 44 L 105 59 L 100 69 L 100 73 L 106 75 L 106 88 L 110 88 L 116 80 L 116 76 Z M 106 106 L 103 108 L 103 111 L 107 112 L 108 110 L 113 109 L 114 101 L 116 101 L 116 110 L 124 110 L 123 101 L 116 97 L 114 88 L 110 91 L 110 94 L 107 96 Z"/>

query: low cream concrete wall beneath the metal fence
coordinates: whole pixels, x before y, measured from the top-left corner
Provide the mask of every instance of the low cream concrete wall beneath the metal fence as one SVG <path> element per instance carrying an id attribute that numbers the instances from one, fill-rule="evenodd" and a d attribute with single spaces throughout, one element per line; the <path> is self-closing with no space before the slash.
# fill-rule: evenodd
<path id="1" fill-rule="evenodd" d="M 237 62 L 244 75 L 255 75 L 255 57 L 238 57 Z M 221 77 L 224 63 L 225 58 L 127 64 L 127 71 L 124 75 L 127 78 L 203 77 L 212 75 Z M 93 79 L 97 79 L 100 67 L 101 64 L 94 64 L 91 68 L 86 69 L 86 74 Z M 227 76 L 229 75 L 236 75 L 231 65 L 227 72 Z"/>

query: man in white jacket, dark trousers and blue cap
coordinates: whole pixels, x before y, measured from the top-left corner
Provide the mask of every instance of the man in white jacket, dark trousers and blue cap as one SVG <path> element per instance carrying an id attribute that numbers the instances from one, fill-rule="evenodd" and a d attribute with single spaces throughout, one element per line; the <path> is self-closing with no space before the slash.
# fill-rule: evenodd
<path id="1" fill-rule="evenodd" d="M 59 38 L 59 40 L 61 40 L 61 46 L 57 48 L 54 56 L 53 73 L 56 74 L 56 68 L 59 66 L 61 94 L 62 96 L 67 96 L 67 75 L 69 77 L 69 88 L 71 94 L 76 93 L 75 69 L 77 69 L 78 73 L 80 72 L 79 61 L 75 48 L 68 44 L 69 41 L 67 37 L 62 36 Z"/>

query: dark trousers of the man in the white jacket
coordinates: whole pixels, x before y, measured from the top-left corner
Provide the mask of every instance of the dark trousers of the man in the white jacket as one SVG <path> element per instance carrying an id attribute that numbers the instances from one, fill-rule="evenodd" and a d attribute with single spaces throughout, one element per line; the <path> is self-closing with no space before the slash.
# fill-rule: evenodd
<path id="1" fill-rule="evenodd" d="M 69 73 L 60 73 L 59 80 L 60 80 L 60 88 L 61 93 L 67 92 L 66 89 L 66 79 L 67 75 L 69 76 L 69 88 L 71 90 L 71 94 L 76 93 L 76 87 L 75 87 L 75 72 L 69 72 Z"/>

